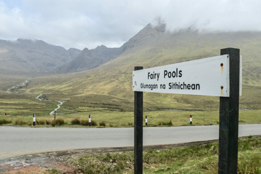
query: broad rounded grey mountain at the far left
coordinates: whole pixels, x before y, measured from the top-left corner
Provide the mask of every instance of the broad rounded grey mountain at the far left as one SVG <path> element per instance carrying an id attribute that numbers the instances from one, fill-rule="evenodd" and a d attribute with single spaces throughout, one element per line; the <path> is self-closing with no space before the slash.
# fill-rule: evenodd
<path id="1" fill-rule="evenodd" d="M 5 74 L 52 73 L 71 60 L 66 49 L 37 39 L 0 40 L 0 71 Z"/>

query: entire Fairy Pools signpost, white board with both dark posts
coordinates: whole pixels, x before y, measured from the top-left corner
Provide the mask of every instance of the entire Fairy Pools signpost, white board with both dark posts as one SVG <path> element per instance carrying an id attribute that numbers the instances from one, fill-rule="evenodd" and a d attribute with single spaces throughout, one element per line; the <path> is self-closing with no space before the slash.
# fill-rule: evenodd
<path id="1" fill-rule="evenodd" d="M 143 92 L 219 96 L 219 173 L 237 173 L 238 105 L 242 95 L 239 49 L 221 56 L 143 69 L 132 74 L 134 91 L 134 173 L 142 173 Z"/>

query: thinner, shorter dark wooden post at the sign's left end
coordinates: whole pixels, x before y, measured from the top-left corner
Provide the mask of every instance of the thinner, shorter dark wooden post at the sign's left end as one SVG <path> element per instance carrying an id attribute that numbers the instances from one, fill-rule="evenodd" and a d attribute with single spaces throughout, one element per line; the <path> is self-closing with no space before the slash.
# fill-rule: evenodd
<path id="1" fill-rule="evenodd" d="M 135 66 L 134 70 L 143 69 Z M 134 91 L 134 173 L 142 173 L 143 163 L 143 92 Z"/>

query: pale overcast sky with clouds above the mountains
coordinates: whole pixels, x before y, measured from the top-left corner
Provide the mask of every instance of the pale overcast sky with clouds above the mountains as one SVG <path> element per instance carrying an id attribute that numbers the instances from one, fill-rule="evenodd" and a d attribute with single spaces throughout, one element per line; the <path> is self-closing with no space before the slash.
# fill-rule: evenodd
<path id="1" fill-rule="evenodd" d="M 261 30 L 260 0 L 0 0 L 0 39 L 120 47 L 160 17 L 168 31 Z"/>

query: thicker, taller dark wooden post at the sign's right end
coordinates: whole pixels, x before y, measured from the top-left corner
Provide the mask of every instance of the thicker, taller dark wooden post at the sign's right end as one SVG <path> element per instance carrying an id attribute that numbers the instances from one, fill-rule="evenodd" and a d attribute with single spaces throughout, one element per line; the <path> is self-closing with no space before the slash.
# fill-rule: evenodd
<path id="1" fill-rule="evenodd" d="M 229 97 L 220 97 L 218 173 L 236 174 L 238 166 L 239 49 L 225 48 L 229 54 Z"/>

